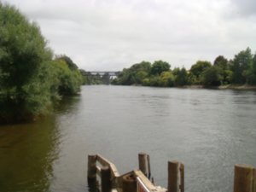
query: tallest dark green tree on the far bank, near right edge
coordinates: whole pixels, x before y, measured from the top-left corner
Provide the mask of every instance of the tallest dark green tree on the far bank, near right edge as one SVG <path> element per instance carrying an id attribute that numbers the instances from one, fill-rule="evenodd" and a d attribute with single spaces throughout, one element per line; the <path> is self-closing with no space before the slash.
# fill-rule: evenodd
<path id="1" fill-rule="evenodd" d="M 247 48 L 242 50 L 237 55 L 231 64 L 232 83 L 233 84 L 245 84 L 249 80 L 249 68 L 253 64 L 253 55 L 251 49 Z"/>

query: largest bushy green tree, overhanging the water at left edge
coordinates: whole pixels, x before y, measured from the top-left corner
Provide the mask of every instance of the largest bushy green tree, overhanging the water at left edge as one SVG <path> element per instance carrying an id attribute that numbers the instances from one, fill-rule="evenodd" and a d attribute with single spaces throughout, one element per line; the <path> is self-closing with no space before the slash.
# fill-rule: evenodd
<path id="1" fill-rule="evenodd" d="M 31 119 L 48 110 L 51 59 L 38 25 L 0 3 L 0 121 Z"/>

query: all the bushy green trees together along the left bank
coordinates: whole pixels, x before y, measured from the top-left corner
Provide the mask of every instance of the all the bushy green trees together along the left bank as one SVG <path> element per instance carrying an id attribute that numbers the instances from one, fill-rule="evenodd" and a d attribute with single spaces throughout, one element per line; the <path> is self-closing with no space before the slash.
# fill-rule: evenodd
<path id="1" fill-rule="evenodd" d="M 35 119 L 83 82 L 67 55 L 54 55 L 35 22 L 0 2 L 0 122 Z"/>

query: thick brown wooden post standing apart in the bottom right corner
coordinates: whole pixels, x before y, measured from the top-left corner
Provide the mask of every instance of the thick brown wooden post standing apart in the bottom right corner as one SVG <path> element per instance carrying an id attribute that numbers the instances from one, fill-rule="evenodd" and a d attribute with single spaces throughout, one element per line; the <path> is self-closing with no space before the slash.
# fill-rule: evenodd
<path id="1" fill-rule="evenodd" d="M 234 192 L 253 192 L 253 167 L 236 164 Z"/>

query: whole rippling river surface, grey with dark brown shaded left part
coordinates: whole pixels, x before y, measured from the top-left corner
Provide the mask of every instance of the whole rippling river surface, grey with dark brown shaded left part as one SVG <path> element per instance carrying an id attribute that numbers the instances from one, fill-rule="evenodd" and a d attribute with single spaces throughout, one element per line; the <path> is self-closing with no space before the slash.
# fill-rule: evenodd
<path id="1" fill-rule="evenodd" d="M 0 191 L 88 191 L 87 154 L 125 173 L 143 151 L 163 187 L 167 161 L 180 160 L 186 191 L 231 192 L 255 146 L 256 92 L 84 86 L 48 118 L 0 126 Z"/>

